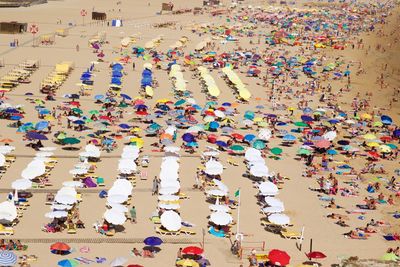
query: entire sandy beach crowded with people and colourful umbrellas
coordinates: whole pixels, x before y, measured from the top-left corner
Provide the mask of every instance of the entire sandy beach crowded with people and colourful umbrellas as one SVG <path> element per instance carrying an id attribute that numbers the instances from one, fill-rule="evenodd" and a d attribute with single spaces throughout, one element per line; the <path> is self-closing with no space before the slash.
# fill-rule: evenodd
<path id="1" fill-rule="evenodd" d="M 25 181 L 29 188 L 19 190 L 31 194 L 28 204 L 17 202 L 19 215 L 11 221 L 18 222 L 3 223 L 13 225 L 13 235 L 4 236 L 6 243 L 10 239 L 20 240 L 28 246 L 25 251 L 14 250 L 15 255 L 37 256 L 37 260 L 28 261 L 29 265 L 20 266 L 74 266 L 58 265 L 61 260 L 74 258 L 78 258 L 75 261 L 81 266 L 110 266 L 116 257 L 127 259 L 120 266 L 177 266 L 179 248 L 187 246 L 201 247 L 202 256 L 211 266 L 256 266 L 251 265 L 251 259 L 257 254 L 258 264 L 266 262 L 272 249 L 290 255 L 286 266 L 300 266 L 310 261 L 305 254 L 311 250 L 311 240 L 312 251 L 325 255 L 312 259 L 317 266 L 352 266 L 344 265 L 345 260 L 350 257 L 381 260 L 386 254 L 397 257 L 397 262 L 365 261 L 364 265 L 354 266 L 400 264 L 399 250 L 395 250 L 400 244 L 398 5 L 392 1 L 385 4 L 325 1 L 311 7 L 303 1 L 296 5 L 241 1 L 234 6 L 230 1 L 221 2 L 223 5 L 203 8 L 198 14 L 193 11 L 159 14 L 162 4 L 159 0 L 87 0 L 84 3 L 64 0 L 0 9 L 1 21 L 24 22 L 28 29 L 36 24 L 39 28 L 35 36 L 29 30 L 0 35 L 0 65 L 3 65 L 0 77 L 9 76 L 27 60 L 34 60 L 38 65 L 27 78 L 29 83 L 20 81 L 10 90 L 3 86 L 0 152 L 7 150 L 4 146 L 15 149 L 2 153 L 3 165 L 7 167 L 2 167 L 0 202 L 13 205 L 16 201 L 13 182 L 21 177 L 25 179 L 24 169 L 34 172 L 41 167 L 29 165 L 40 148 L 34 150 L 27 144 L 35 147 L 41 136 L 45 136 L 41 145 L 55 148 L 48 156 L 39 157 L 46 162 L 43 163 L 45 174 L 39 175 L 46 181 L 32 176 L 25 180 L 34 183 Z M 174 10 L 202 7 L 202 1 L 197 0 L 174 0 L 173 4 Z M 80 15 L 82 9 L 88 13 L 84 19 Z M 91 20 L 92 11 L 107 13 L 107 20 Z M 212 12 L 218 14 L 212 15 Z M 367 19 L 362 21 L 360 18 L 364 16 Z M 122 27 L 114 27 L 113 20 L 121 20 Z M 172 26 L 156 27 L 161 23 Z M 310 29 L 305 30 L 307 27 Z M 323 29 L 316 30 L 316 27 Z M 60 29 L 68 29 L 66 36 L 53 36 Z M 102 33 L 104 40 L 91 41 Z M 47 40 L 44 35 L 49 36 L 49 43 L 43 41 Z M 158 41 L 150 45 L 155 38 Z M 16 40 L 18 45 L 11 47 L 10 43 Z M 129 40 L 127 45 L 123 44 L 124 40 Z M 179 40 L 184 41 L 176 47 Z M 60 62 L 73 62 L 65 81 L 56 90 L 50 89 L 50 94 L 41 92 L 44 79 Z M 150 67 L 146 68 L 145 64 Z M 173 64 L 180 65 L 177 72 L 184 79 L 182 90 L 177 86 L 180 78 L 171 78 Z M 122 70 L 116 65 L 122 66 Z M 198 67 L 204 67 L 204 72 L 208 70 L 211 78 Z M 230 71 L 237 74 L 240 82 L 229 81 L 232 76 L 226 72 Z M 93 85 L 82 84 L 85 72 Z M 145 73 L 153 79 L 152 94 L 145 93 L 148 89 L 143 86 Z M 0 80 L 4 82 L 3 78 Z M 122 84 L 117 85 L 114 78 Z M 238 84 L 243 85 L 240 90 Z M 214 96 L 211 87 L 217 88 L 219 94 Z M 249 97 L 243 97 L 245 89 Z M 74 99 L 68 94 L 78 97 Z M 73 112 L 74 108 L 79 110 Z M 44 109 L 47 112 L 40 114 Z M 141 111 L 154 117 L 145 119 Z M 233 122 L 227 122 L 226 118 Z M 38 129 L 40 121 L 47 122 L 43 129 Z M 26 126 L 28 122 L 33 126 Z M 149 134 L 154 123 L 160 128 Z M 195 133 L 187 130 L 195 126 L 201 126 L 201 130 Z M 224 127 L 231 129 L 224 131 Z M 173 133 L 169 134 L 167 129 Z M 98 133 L 102 130 L 103 133 Z M 267 133 L 267 137 L 261 137 L 261 132 Z M 63 143 L 58 138 L 60 133 L 77 142 Z M 232 137 L 233 133 L 241 137 Z M 212 140 L 213 135 L 220 143 Z M 253 135 L 250 141 L 245 140 L 248 135 Z M 140 140 L 131 141 L 132 138 Z M 105 144 L 107 140 L 110 144 Z M 190 143 L 196 145 L 192 147 Z M 87 145 L 96 145 L 101 153 L 94 157 L 96 162 L 85 161 L 80 155 Z M 129 154 L 126 147 L 132 146 L 138 147 L 137 153 L 129 152 L 132 156 L 125 157 Z M 175 146 L 180 148 L 176 154 L 165 151 L 165 147 Z M 216 155 L 207 156 L 206 151 Z M 257 164 L 248 159 L 250 153 L 254 153 Z M 147 157 L 148 164 L 143 162 Z M 164 166 L 168 157 L 173 159 Z M 123 159 L 134 166 L 129 175 L 124 172 L 131 169 L 121 167 Z M 218 162 L 214 162 L 220 170 L 218 174 L 207 174 L 207 163 L 212 161 Z M 79 163 L 93 167 L 83 175 L 71 174 Z M 175 164 L 179 166 L 179 171 L 176 170 L 179 179 L 163 182 L 163 169 L 166 171 Z M 266 168 L 268 175 L 254 175 L 254 166 Z M 168 175 L 172 176 L 171 173 Z M 84 182 L 86 177 L 92 177 L 95 185 Z M 96 177 L 104 178 L 102 185 Z M 132 220 L 114 225 L 108 222 L 111 224 L 108 227 L 115 227 L 112 236 L 107 235 L 108 230 L 103 234 L 96 232 L 93 225 L 103 225 L 104 213 L 112 210 L 111 194 L 101 198 L 102 191 L 110 192 L 114 186 L 115 189 L 115 182 L 124 177 L 129 178 L 133 188 L 129 199 L 113 203 L 127 211 L 135 206 L 136 223 Z M 160 191 L 163 183 L 168 184 L 164 186 L 166 191 L 172 190 L 171 184 L 176 183 L 179 189 L 172 190 L 171 194 L 154 194 L 154 178 L 161 179 Z M 213 179 L 223 185 L 218 186 Z M 57 195 L 58 190 L 67 187 L 63 183 L 72 180 L 84 182 L 76 188 L 79 202 L 74 196 L 73 203 L 68 205 L 53 204 L 71 204 L 73 212 L 69 212 L 68 220 L 70 216 L 73 223 L 79 219 L 85 228 L 78 228 L 73 234 L 63 228 L 56 232 L 43 231 L 53 229 L 53 223 L 55 229 L 57 224 L 62 224 L 45 217 L 52 211 L 52 203 L 46 204 L 49 193 Z M 205 188 L 199 189 L 194 186 L 196 183 Z M 277 191 L 264 192 L 261 185 Z M 224 186 L 228 190 L 221 189 Z M 118 188 L 119 192 L 122 189 Z M 70 187 L 70 190 L 75 189 Z M 231 219 L 226 225 L 215 223 L 209 217 L 212 214 L 209 206 L 215 204 L 215 195 L 210 190 L 219 190 L 224 195 L 219 198 L 219 206 L 229 210 L 223 214 Z M 9 199 L 10 192 L 14 199 Z M 161 195 L 177 197 L 179 208 L 157 209 L 162 202 Z M 279 206 L 282 208 L 279 212 L 262 211 L 277 207 L 268 206 L 265 197 L 278 198 L 284 207 Z M 154 223 L 151 218 L 160 215 L 163 220 L 164 212 L 181 217 L 179 235 L 157 233 L 156 229 L 165 225 Z M 8 214 L 4 211 L 0 215 L 3 213 Z M 67 213 L 61 221 L 67 218 Z M 129 211 L 126 214 L 130 217 Z M 271 214 L 290 218 L 290 222 L 268 221 L 266 218 Z M 192 234 L 182 233 L 181 227 Z M 210 233 L 210 227 L 217 229 L 217 233 L 212 234 L 212 230 Z M 226 227 L 228 232 L 222 230 Z M 243 238 L 241 255 L 231 250 L 238 238 L 238 229 L 239 237 Z M 221 232 L 225 237 L 218 237 Z M 285 238 L 285 233 L 290 232 L 293 238 Z M 150 236 L 162 239 L 160 252 L 150 258 L 133 255 L 131 250 L 142 251 L 143 240 Z M 393 241 L 388 241 L 392 236 Z M 51 253 L 50 246 L 56 242 L 71 247 L 68 255 Z M 390 248 L 395 251 L 388 251 Z M 96 257 L 105 260 L 96 263 Z M 277 262 L 268 264 L 265 266 L 278 266 Z"/>

